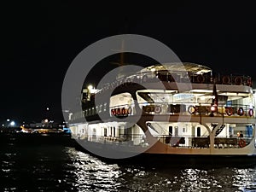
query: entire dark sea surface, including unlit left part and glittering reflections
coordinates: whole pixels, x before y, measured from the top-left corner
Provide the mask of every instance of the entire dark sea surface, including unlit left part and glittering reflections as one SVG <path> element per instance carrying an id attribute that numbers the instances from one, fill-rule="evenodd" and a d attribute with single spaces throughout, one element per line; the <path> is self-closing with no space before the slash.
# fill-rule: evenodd
<path id="1" fill-rule="evenodd" d="M 256 191 L 256 166 L 109 164 L 49 137 L 0 136 L 0 191 Z"/>

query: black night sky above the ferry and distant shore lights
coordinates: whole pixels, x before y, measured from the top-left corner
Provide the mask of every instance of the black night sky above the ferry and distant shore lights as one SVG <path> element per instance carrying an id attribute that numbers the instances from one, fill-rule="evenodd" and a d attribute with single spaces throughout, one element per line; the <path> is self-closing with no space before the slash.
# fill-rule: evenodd
<path id="1" fill-rule="evenodd" d="M 17 1 L 1 6 L 0 120 L 61 119 L 61 86 L 79 52 L 97 40 L 141 34 L 169 46 L 181 61 L 256 79 L 256 12 L 249 3 L 169 4 Z"/>

